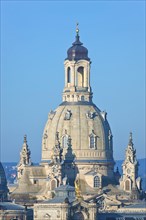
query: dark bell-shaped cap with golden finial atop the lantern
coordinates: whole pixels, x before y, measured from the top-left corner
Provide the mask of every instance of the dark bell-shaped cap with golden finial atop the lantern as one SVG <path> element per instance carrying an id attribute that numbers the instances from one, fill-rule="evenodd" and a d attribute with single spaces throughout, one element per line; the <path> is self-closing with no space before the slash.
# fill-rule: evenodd
<path id="1" fill-rule="evenodd" d="M 90 60 L 88 57 L 88 50 L 87 48 L 83 47 L 83 43 L 80 42 L 80 36 L 79 36 L 79 29 L 78 29 L 78 24 L 76 28 L 76 40 L 72 44 L 73 46 L 70 47 L 67 51 L 67 58 L 68 60 Z"/>

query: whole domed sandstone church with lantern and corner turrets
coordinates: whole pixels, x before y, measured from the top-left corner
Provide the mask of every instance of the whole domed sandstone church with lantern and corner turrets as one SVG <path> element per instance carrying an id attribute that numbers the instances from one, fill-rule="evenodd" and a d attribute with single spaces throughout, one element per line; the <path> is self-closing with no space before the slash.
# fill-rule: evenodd
<path id="1" fill-rule="evenodd" d="M 123 174 L 114 172 L 113 135 L 107 113 L 92 101 L 90 67 L 77 26 L 64 62 L 62 103 L 48 114 L 44 128 L 41 162 L 31 162 L 25 136 L 18 185 L 11 193 L 19 203 L 34 204 L 36 220 L 106 219 L 105 213 L 117 213 L 143 196 L 132 133 Z"/>

